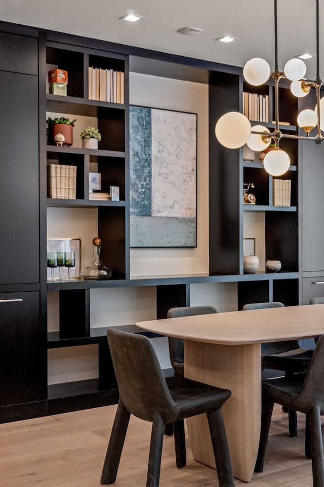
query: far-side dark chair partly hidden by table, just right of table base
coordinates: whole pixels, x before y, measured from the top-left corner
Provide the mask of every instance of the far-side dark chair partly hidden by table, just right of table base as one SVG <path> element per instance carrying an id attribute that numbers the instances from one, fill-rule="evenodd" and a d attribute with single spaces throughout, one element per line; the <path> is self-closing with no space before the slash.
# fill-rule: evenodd
<path id="1" fill-rule="evenodd" d="M 274 301 L 266 303 L 245 304 L 243 310 L 284 307 Z M 285 371 L 285 375 L 303 372 L 307 369 L 313 350 L 302 349 L 298 340 L 272 341 L 261 344 L 261 360 L 266 368 Z M 289 410 L 289 434 L 297 436 L 297 416 L 295 410 Z"/>

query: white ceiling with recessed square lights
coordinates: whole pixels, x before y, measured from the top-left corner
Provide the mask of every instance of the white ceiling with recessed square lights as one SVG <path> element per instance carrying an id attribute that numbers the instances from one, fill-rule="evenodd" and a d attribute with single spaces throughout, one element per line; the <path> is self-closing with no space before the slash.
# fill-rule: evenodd
<path id="1" fill-rule="evenodd" d="M 321 60 L 324 0 L 319 11 Z M 272 0 L 0 0 L 0 20 L 236 66 L 263 57 L 271 68 L 273 12 Z M 127 13 L 145 18 L 118 20 Z M 278 0 L 280 70 L 291 57 L 316 54 L 315 16 L 314 0 Z M 203 32 L 194 37 L 177 32 L 186 26 Z M 225 34 L 238 40 L 215 41 Z M 308 79 L 315 78 L 315 59 L 306 61 Z"/>

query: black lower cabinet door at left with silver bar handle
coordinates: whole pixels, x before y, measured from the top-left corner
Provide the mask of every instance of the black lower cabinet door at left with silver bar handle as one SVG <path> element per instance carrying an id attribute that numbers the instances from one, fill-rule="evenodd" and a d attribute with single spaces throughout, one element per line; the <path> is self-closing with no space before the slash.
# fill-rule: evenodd
<path id="1" fill-rule="evenodd" d="M 39 293 L 0 294 L 0 326 L 0 406 L 44 399 Z"/>

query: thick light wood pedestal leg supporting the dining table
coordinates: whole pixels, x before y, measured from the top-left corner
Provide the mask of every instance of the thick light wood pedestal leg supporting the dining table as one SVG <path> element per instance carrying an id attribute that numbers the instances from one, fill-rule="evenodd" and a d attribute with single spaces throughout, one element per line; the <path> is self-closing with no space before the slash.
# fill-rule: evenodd
<path id="1" fill-rule="evenodd" d="M 229 389 L 222 407 L 234 477 L 249 482 L 261 426 L 261 345 L 217 345 L 184 341 L 184 374 Z M 187 419 L 193 458 L 215 468 L 206 414 Z"/>

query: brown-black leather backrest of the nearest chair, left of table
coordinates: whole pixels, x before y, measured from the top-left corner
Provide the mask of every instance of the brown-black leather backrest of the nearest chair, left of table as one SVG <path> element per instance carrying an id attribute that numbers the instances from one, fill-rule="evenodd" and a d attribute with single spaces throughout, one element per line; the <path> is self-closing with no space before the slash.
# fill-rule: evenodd
<path id="1" fill-rule="evenodd" d="M 176 408 L 150 340 L 111 328 L 107 338 L 124 407 L 145 421 L 152 421 L 155 411 L 169 417 Z"/>

